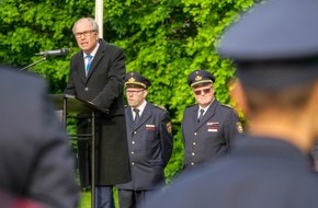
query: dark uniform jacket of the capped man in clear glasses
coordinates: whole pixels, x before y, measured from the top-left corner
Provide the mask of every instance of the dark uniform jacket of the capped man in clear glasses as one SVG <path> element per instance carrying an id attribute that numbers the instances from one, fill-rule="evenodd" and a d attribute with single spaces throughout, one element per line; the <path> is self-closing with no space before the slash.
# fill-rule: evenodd
<path id="1" fill-rule="evenodd" d="M 154 189 L 164 183 L 164 167 L 172 154 L 173 138 L 167 109 L 147 103 L 134 124 L 132 108 L 125 108 L 133 180 L 121 189 Z"/>

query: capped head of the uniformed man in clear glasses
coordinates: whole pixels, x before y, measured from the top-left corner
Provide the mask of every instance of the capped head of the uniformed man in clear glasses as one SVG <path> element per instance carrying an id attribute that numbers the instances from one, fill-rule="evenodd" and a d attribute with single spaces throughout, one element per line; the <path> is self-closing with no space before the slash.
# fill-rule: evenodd
<path id="1" fill-rule="evenodd" d="M 126 73 L 125 88 L 127 102 L 130 107 L 138 107 L 143 104 L 147 96 L 147 89 L 151 82 L 141 74 L 132 71 Z"/>

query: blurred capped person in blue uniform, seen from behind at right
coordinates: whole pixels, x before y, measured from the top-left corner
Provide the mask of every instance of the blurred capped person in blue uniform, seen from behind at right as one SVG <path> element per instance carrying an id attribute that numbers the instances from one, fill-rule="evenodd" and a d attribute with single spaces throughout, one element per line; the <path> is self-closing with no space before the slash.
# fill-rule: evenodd
<path id="1" fill-rule="evenodd" d="M 186 176 L 147 208 L 317 208 L 308 153 L 318 138 L 318 1 L 258 4 L 224 35 L 250 120 L 229 157 Z"/>

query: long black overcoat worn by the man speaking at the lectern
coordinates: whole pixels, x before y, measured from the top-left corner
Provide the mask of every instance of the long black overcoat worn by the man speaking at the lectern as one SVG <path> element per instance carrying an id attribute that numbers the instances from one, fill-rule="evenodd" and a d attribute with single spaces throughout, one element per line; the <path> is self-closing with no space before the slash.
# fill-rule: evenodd
<path id="1" fill-rule="evenodd" d="M 124 115 L 123 85 L 125 56 L 122 49 L 100 39 L 88 77 L 84 74 L 83 53 L 70 60 L 70 72 L 66 94 L 90 101 L 109 109 L 107 115 L 96 116 L 95 170 L 96 185 L 114 185 L 130 181 L 126 124 Z M 78 132 L 89 131 L 90 124 L 80 120 Z M 79 143 L 79 169 L 81 185 L 89 185 L 89 142 Z"/>

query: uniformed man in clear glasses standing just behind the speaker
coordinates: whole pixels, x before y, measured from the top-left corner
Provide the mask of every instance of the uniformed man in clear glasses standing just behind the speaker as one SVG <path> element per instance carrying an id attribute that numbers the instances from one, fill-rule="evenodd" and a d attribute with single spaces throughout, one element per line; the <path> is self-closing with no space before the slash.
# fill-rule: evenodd
<path id="1" fill-rule="evenodd" d="M 132 182 L 118 185 L 121 208 L 139 207 L 164 183 L 163 170 L 173 147 L 171 123 L 166 108 L 146 101 L 150 81 L 137 72 L 125 79 L 125 108 Z"/>

